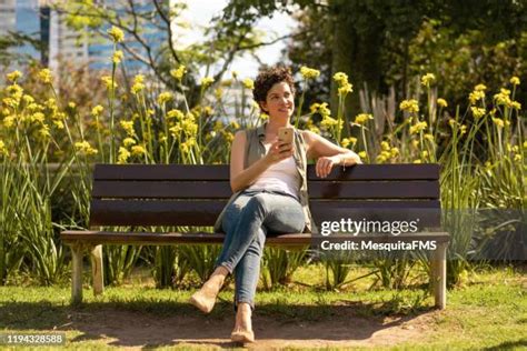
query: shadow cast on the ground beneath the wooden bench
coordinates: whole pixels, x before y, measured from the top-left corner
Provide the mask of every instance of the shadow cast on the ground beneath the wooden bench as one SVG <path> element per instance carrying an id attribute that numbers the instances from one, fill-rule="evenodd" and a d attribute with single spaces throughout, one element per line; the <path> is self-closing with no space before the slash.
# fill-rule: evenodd
<path id="1" fill-rule="evenodd" d="M 298 305 L 266 303 L 257 307 L 253 328 L 258 340 L 360 341 L 387 328 L 400 325 L 431 308 L 409 315 L 390 315 L 389 303 L 339 301 L 332 304 Z M 68 340 L 78 344 L 100 340 L 118 347 L 161 347 L 176 344 L 232 348 L 232 304 L 219 301 L 203 315 L 193 307 L 170 301 L 88 302 L 78 307 L 49 302 L 4 302 L 0 329 L 78 331 Z"/>

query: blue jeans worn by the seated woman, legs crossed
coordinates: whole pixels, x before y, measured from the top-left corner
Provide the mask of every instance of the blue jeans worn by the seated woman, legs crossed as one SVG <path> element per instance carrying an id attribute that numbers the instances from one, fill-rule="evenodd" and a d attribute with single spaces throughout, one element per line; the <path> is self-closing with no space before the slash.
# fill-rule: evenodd
<path id="1" fill-rule="evenodd" d="M 289 194 L 246 190 L 226 209 L 223 248 L 216 261 L 235 273 L 235 309 L 240 302 L 255 308 L 264 244 L 269 233 L 300 233 L 306 224 L 302 207 Z"/>

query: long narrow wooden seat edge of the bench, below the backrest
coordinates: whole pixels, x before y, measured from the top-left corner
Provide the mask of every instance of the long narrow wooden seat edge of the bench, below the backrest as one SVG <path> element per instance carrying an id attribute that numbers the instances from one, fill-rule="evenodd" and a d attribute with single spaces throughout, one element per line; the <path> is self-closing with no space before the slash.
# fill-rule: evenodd
<path id="1" fill-rule="evenodd" d="M 198 244 L 198 243 L 222 243 L 223 234 L 218 233 L 128 233 L 128 232 L 108 232 L 108 231 L 63 231 L 60 234 L 61 240 L 64 243 L 72 244 L 78 241 L 82 243 L 100 244 Z M 319 240 L 328 240 L 327 238 L 311 237 L 310 234 L 302 233 L 290 233 L 280 234 L 277 237 L 269 237 L 266 240 L 266 244 L 278 244 L 278 245 L 298 245 L 298 244 L 312 244 Z M 414 233 L 405 235 L 380 235 L 380 234 L 368 234 L 357 237 L 335 237 L 331 240 L 347 240 L 351 242 L 372 241 L 372 242 L 397 242 L 397 241 L 412 241 L 412 240 L 437 240 L 438 242 L 447 242 L 449 240 L 448 233 L 445 232 L 427 232 L 427 233 Z"/>

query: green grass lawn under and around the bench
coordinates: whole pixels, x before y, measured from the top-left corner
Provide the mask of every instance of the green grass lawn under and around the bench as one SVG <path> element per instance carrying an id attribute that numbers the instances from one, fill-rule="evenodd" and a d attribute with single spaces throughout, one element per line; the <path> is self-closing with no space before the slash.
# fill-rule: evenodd
<path id="1" fill-rule="evenodd" d="M 435 311 L 431 297 L 422 289 L 398 291 L 368 290 L 371 281 L 364 279 L 347 291 L 325 291 L 318 287 L 322 268 L 301 268 L 294 277 L 306 284 L 291 284 L 257 294 L 257 314 L 285 324 L 329 323 L 354 315 L 364 321 L 381 322 L 386 319 L 411 320 L 427 315 L 426 333 L 411 341 L 396 343 L 394 350 L 417 349 L 521 349 L 527 345 L 527 279 L 525 271 L 511 268 L 493 268 L 474 272 L 466 281 L 449 291 L 445 311 Z M 356 274 L 362 273 L 360 269 Z M 307 287 L 310 284 L 311 287 Z M 199 315 L 186 301 L 191 290 L 157 290 L 151 282 L 136 275 L 128 284 L 108 288 L 102 297 L 84 290 L 84 303 L 69 304 L 70 288 L 2 287 L 0 288 L 1 332 L 66 331 L 68 349 L 113 348 L 102 334 L 71 328 L 74 317 L 97 324 L 93 315 L 112 318 L 112 313 L 131 313 L 137 318 L 189 318 L 198 323 L 231 322 L 232 291 L 220 293 L 220 302 L 208 317 Z M 228 315 L 229 320 L 226 320 Z M 111 333 L 110 333 L 111 334 Z M 225 335 L 227 337 L 227 335 Z M 213 345 L 213 344 L 212 344 Z M 309 340 L 307 340 L 309 347 Z M 169 341 L 150 344 L 159 349 L 185 349 Z M 208 344 L 208 347 L 211 347 Z M 43 348 L 46 349 L 46 348 Z M 379 349 L 386 349 L 379 347 Z"/>

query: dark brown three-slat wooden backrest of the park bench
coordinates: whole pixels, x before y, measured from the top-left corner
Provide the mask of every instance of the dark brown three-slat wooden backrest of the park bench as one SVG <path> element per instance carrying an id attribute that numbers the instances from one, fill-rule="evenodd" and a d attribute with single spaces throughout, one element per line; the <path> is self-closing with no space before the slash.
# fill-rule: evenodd
<path id="1" fill-rule="evenodd" d="M 316 223 L 354 218 L 440 225 L 438 164 L 360 164 L 326 179 L 308 167 Z M 96 164 L 90 225 L 213 225 L 231 195 L 229 166 Z"/>

